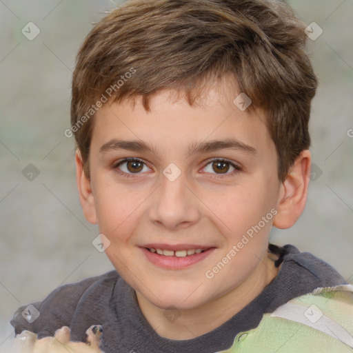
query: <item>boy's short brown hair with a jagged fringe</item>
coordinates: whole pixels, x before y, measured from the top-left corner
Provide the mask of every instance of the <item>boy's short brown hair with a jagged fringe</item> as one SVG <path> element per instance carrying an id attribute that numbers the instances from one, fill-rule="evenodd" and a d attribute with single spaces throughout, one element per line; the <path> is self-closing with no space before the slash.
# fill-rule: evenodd
<path id="1" fill-rule="evenodd" d="M 193 105 L 208 83 L 232 73 L 250 109 L 265 111 L 283 181 L 310 147 L 317 79 L 304 29 L 282 0 L 132 0 L 112 10 L 85 38 L 72 79 L 72 132 L 86 176 L 92 106 L 111 87 L 105 99 L 142 96 L 150 111 L 150 97 L 163 89 L 183 92 Z"/>

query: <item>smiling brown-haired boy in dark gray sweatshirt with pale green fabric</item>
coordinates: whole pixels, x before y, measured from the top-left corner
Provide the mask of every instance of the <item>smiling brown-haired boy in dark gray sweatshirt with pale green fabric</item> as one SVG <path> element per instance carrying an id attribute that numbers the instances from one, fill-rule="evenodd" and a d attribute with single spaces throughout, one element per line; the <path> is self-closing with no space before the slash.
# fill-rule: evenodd
<path id="1" fill-rule="evenodd" d="M 307 197 L 304 29 L 270 0 L 128 1 L 94 26 L 67 133 L 115 270 L 32 303 L 34 321 L 20 307 L 16 334 L 102 325 L 105 353 L 352 349 L 352 286 L 268 243 Z"/>

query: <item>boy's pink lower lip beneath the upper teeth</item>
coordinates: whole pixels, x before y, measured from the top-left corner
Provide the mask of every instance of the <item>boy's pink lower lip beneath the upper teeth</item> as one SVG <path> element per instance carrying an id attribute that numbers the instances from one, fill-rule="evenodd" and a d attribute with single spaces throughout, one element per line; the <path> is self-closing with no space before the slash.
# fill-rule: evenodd
<path id="1" fill-rule="evenodd" d="M 150 252 L 150 250 L 147 250 L 146 248 L 141 248 L 141 250 L 147 259 L 154 265 L 161 268 L 168 268 L 170 270 L 179 270 L 182 268 L 188 268 L 189 266 L 194 265 L 194 263 L 202 261 L 209 256 L 215 248 L 210 248 L 204 252 L 200 252 L 200 254 L 193 254 L 184 257 L 160 255 L 157 254 L 157 252 Z"/>

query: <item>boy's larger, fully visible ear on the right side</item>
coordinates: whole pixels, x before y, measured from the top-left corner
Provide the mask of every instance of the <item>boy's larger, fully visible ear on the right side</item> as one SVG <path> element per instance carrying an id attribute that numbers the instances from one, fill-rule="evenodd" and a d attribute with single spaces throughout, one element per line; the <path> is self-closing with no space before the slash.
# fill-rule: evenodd
<path id="1" fill-rule="evenodd" d="M 288 172 L 287 178 L 281 183 L 277 214 L 273 225 L 279 229 L 292 227 L 301 216 L 307 199 L 307 187 L 310 181 L 311 155 L 304 150 L 296 157 Z"/>

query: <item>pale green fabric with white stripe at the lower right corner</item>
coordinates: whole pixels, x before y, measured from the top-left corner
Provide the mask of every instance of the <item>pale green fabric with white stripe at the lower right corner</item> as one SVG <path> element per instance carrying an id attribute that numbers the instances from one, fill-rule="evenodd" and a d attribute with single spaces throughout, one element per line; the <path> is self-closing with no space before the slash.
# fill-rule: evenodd
<path id="1" fill-rule="evenodd" d="M 235 352 L 335 352 L 353 348 L 353 285 L 317 288 L 264 314 L 259 325 L 236 335 Z M 221 353 L 221 352 L 219 352 Z"/>

